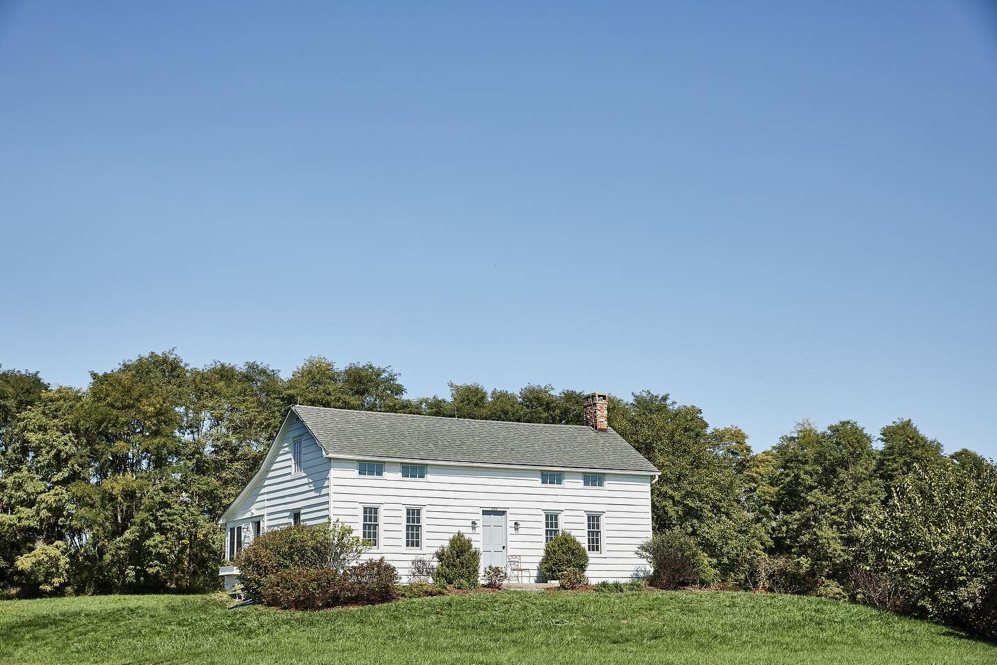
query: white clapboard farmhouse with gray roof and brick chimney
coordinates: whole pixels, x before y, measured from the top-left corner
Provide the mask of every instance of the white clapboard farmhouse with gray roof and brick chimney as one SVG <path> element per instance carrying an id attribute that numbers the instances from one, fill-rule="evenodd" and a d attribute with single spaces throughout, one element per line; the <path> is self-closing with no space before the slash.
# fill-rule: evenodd
<path id="1" fill-rule="evenodd" d="M 295 406 L 259 472 L 221 515 L 228 559 L 260 533 L 338 519 L 405 579 L 463 531 L 482 566 L 538 580 L 543 545 L 569 531 L 590 580 L 645 570 L 658 470 L 607 425 L 605 395 L 584 426 L 534 425 Z M 516 572 L 511 571 L 513 576 Z M 238 570 L 222 566 L 226 587 Z"/>

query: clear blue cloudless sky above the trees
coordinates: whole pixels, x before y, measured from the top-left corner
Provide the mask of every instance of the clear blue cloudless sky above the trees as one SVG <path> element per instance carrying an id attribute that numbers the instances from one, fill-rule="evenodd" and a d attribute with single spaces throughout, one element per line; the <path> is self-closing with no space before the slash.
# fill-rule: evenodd
<path id="1" fill-rule="evenodd" d="M 324 355 L 997 457 L 986 1 L 5 3 L 0 224 L 56 383 Z"/>

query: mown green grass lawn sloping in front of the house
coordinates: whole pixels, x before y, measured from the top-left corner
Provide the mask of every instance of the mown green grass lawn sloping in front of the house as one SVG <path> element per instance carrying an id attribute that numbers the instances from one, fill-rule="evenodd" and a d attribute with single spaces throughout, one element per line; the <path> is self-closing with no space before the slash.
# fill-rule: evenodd
<path id="1" fill-rule="evenodd" d="M 0 602 L 3 663 L 997 663 L 867 607 L 751 593 L 479 593 L 329 612 L 216 596 Z"/>

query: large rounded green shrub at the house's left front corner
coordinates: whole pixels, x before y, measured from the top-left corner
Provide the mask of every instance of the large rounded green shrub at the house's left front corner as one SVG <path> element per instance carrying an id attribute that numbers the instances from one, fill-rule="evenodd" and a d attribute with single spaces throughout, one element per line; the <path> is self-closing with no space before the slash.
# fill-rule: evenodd
<path id="1" fill-rule="evenodd" d="M 353 529 L 338 521 L 314 526 L 300 524 L 267 531 L 235 557 L 242 591 L 253 600 L 262 599 L 263 581 L 270 575 L 293 569 L 343 570 L 367 550 Z"/>

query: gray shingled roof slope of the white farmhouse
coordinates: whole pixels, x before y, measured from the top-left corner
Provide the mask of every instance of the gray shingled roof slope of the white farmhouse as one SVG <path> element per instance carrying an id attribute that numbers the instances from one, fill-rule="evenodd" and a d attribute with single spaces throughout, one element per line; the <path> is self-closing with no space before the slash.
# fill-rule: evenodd
<path id="1" fill-rule="evenodd" d="M 293 411 L 327 455 L 658 472 L 612 430 L 596 432 L 582 425 L 505 423 L 301 405 L 295 405 Z"/>

